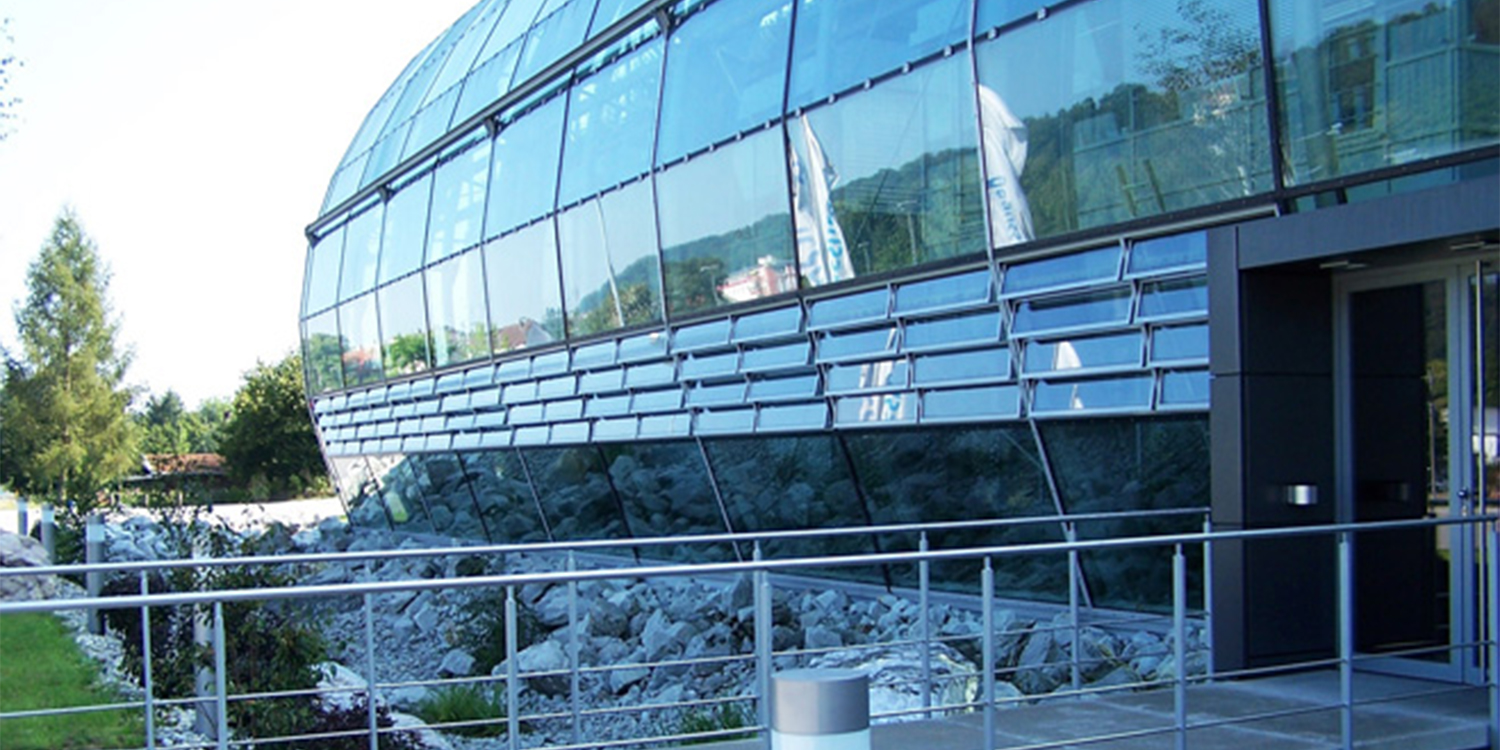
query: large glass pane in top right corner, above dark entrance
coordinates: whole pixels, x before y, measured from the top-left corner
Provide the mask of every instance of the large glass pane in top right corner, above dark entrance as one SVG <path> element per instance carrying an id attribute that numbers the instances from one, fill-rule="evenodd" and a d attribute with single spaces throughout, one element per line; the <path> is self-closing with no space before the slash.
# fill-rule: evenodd
<path id="1" fill-rule="evenodd" d="M 1491 3 L 1270 3 L 1288 183 L 1500 140 L 1500 24 Z"/>

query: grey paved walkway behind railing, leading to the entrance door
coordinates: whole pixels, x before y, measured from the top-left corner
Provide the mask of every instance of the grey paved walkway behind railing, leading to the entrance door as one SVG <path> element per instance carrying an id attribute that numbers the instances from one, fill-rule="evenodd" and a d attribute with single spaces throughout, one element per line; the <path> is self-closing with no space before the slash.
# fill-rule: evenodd
<path id="1" fill-rule="evenodd" d="M 1354 680 L 1354 744 L 1390 750 L 1478 750 L 1488 746 L 1488 688 L 1371 674 Z M 1368 702 L 1368 704 L 1366 704 Z M 1360 705 L 1366 704 L 1366 705 Z M 1340 747 L 1338 674 L 1302 672 L 1188 690 L 1188 747 L 1326 750 Z M 1275 718 L 1251 718 L 1257 714 Z M 1116 693 L 996 711 L 998 748 L 1158 750 L 1174 744 L 1173 693 Z M 1146 734 L 1152 732 L 1152 734 Z M 1122 736 L 1125 735 L 1125 736 Z M 963 714 L 879 724 L 873 750 L 981 750 L 984 722 Z M 716 750 L 762 750 L 735 741 Z"/>

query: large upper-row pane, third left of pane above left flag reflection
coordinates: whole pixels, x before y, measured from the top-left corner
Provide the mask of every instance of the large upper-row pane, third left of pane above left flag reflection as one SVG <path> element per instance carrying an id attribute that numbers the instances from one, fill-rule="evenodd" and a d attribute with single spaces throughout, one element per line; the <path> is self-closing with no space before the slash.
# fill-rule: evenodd
<path id="1" fill-rule="evenodd" d="M 486 237 L 510 231 L 552 210 L 564 104 L 566 99 L 558 96 L 495 135 L 489 210 L 484 216 Z"/>

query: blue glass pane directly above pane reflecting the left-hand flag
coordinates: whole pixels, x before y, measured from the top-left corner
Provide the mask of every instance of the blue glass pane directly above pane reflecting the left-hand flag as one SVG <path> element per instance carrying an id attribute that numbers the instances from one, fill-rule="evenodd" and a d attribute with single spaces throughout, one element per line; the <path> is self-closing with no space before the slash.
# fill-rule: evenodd
<path id="1" fill-rule="evenodd" d="M 969 32 L 963 0 L 801 0 L 792 48 L 789 106 L 800 106 L 894 70 Z"/>

